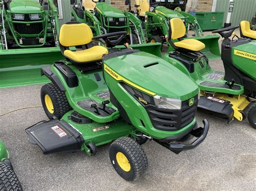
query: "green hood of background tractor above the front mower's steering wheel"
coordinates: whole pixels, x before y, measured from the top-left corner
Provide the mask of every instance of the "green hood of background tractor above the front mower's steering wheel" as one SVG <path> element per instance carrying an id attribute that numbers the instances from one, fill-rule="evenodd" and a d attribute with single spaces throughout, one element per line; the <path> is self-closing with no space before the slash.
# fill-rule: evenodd
<path id="1" fill-rule="evenodd" d="M 97 3 L 96 9 L 105 17 L 125 17 L 122 11 L 104 2 Z"/>

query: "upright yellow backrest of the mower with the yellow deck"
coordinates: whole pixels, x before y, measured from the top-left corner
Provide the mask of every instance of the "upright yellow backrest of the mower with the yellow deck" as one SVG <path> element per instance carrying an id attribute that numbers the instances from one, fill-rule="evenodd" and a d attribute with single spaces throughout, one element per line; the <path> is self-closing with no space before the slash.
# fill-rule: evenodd
<path id="1" fill-rule="evenodd" d="M 172 40 L 185 36 L 186 27 L 180 18 L 172 18 L 170 20 L 170 27 L 171 27 L 170 32 L 171 32 Z"/>

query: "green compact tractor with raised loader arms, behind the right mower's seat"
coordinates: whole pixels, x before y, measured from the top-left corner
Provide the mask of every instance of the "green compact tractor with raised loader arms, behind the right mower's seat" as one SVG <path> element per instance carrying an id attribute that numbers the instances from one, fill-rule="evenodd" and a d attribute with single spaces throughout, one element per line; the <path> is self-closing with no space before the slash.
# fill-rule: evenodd
<path id="1" fill-rule="evenodd" d="M 126 0 L 126 4 L 130 4 L 131 8 L 130 0 Z M 209 59 L 220 57 L 218 44 L 219 36 L 204 36 L 204 33 L 197 22 L 197 18 L 190 13 L 167 9 L 165 6 L 159 6 L 159 2 L 149 4 L 147 0 L 137 0 L 135 6 L 137 11 L 131 12 L 145 23 L 145 38 L 147 42 L 167 44 L 169 47 L 168 51 L 172 51 L 173 47 L 168 40 L 170 19 L 180 18 L 185 25 L 185 37 L 188 37 L 188 29 L 193 29 L 196 37 L 192 38 L 197 39 L 206 45 L 202 52 L 204 52 Z"/>

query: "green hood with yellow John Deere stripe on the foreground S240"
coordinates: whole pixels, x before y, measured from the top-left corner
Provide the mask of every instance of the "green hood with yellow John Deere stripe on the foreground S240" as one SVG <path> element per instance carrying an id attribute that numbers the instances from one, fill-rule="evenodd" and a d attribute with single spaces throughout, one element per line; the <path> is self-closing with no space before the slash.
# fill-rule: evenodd
<path id="1" fill-rule="evenodd" d="M 199 91 L 198 86 L 179 69 L 145 52 L 105 60 L 104 70 L 114 79 L 124 81 L 151 96 L 185 101 Z"/>

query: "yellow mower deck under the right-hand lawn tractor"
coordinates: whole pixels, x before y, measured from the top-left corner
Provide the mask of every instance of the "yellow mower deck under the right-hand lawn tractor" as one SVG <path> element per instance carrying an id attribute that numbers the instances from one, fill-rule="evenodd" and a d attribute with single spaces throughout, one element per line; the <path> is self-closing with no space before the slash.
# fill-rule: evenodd
<path id="1" fill-rule="evenodd" d="M 217 97 L 221 100 L 230 101 L 232 104 L 232 109 L 234 110 L 234 117 L 238 121 L 242 121 L 242 114 L 239 111 L 244 110 L 250 102 L 244 95 L 234 95 L 233 97 L 229 97 L 227 94 L 215 94 L 214 97 Z"/>

